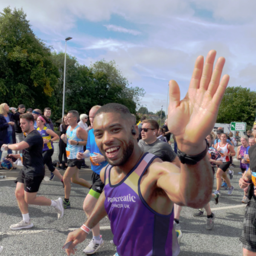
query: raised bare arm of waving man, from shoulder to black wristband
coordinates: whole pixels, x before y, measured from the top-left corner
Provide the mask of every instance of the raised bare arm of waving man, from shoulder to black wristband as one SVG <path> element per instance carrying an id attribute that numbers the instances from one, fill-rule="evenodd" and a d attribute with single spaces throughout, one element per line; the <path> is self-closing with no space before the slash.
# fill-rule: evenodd
<path id="1" fill-rule="evenodd" d="M 162 188 L 175 204 L 193 208 L 204 207 L 210 200 L 213 187 L 213 174 L 208 156 L 195 165 L 180 165 L 179 170 L 171 163 L 157 163 L 157 186 Z"/>

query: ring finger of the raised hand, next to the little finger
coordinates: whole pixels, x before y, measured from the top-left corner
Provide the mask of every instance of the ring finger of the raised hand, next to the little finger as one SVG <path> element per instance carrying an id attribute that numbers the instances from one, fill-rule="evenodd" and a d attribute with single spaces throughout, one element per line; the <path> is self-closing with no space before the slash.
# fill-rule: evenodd
<path id="1" fill-rule="evenodd" d="M 218 89 L 218 85 L 220 83 L 221 80 L 221 73 L 223 70 L 225 64 L 225 58 L 224 57 L 220 57 L 218 58 L 216 64 L 215 64 L 215 68 L 213 70 L 212 73 L 212 79 L 210 81 L 209 87 L 207 92 L 213 97 L 213 95 L 215 94 L 216 90 Z"/>

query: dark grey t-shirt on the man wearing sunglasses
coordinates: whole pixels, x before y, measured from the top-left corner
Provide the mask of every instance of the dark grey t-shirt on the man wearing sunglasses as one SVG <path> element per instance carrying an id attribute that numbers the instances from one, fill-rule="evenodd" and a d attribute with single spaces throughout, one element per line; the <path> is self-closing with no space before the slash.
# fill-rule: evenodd
<path id="1" fill-rule="evenodd" d="M 176 157 L 172 147 L 168 143 L 164 143 L 158 139 L 152 144 L 146 144 L 143 140 L 140 140 L 139 147 L 144 152 L 154 154 L 165 162 L 173 162 Z"/>

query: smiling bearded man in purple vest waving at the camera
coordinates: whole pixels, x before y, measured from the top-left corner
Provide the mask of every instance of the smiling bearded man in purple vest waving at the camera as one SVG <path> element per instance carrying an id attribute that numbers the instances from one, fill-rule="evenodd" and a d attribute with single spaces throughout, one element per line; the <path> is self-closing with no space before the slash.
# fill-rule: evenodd
<path id="1" fill-rule="evenodd" d="M 100 172 L 105 192 L 82 227 L 68 235 L 66 242 L 72 241 L 66 249 L 68 255 L 75 253 L 76 244 L 84 241 L 106 215 L 119 256 L 179 254 L 173 229 L 174 204 L 200 208 L 208 203 L 212 192 L 213 173 L 204 139 L 215 124 L 229 80 L 224 76 L 218 86 L 224 58 L 218 59 L 212 72 L 215 55 L 215 51 L 209 52 L 205 66 L 203 57 L 198 57 L 182 102 L 177 83 L 170 81 L 168 128 L 176 137 L 180 169 L 152 154 L 143 154 L 137 143 L 138 127 L 128 108 L 111 103 L 97 111 L 95 140 L 110 164 Z"/>

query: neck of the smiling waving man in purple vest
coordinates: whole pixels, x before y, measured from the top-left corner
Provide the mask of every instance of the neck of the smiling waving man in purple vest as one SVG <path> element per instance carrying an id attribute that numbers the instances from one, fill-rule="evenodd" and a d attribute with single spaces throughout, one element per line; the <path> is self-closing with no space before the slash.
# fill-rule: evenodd
<path id="1" fill-rule="evenodd" d="M 140 158 L 143 156 L 143 151 L 138 146 L 137 142 L 134 144 L 134 150 L 131 154 L 131 157 L 129 160 L 122 166 L 115 166 L 116 172 L 118 173 L 124 173 L 127 175 L 131 169 L 134 168 L 134 166 L 139 162 Z"/>

